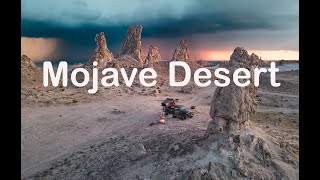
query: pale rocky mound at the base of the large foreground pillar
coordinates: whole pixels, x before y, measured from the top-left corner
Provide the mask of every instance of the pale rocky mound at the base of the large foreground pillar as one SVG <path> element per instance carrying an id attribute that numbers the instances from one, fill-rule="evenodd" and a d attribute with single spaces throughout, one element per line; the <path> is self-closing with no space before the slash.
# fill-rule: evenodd
<path id="1" fill-rule="evenodd" d="M 199 160 L 208 164 L 176 179 L 298 179 L 297 170 L 279 158 L 279 147 L 261 129 L 216 134 L 215 139 L 208 145 L 210 156 Z"/>

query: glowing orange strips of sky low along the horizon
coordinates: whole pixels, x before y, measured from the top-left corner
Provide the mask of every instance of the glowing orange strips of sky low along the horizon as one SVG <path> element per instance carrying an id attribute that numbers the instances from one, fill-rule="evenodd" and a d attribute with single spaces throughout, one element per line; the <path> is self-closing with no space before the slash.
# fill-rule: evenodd
<path id="1" fill-rule="evenodd" d="M 25 54 L 33 61 L 42 61 L 51 58 L 57 58 L 61 55 L 58 46 L 62 45 L 62 40 L 56 38 L 27 38 L 21 37 L 21 55 Z M 171 50 L 161 51 L 161 56 L 171 59 Z M 145 51 L 147 49 L 144 49 Z M 143 51 L 144 52 L 144 51 Z M 193 50 L 190 49 L 191 60 L 206 60 L 206 61 L 228 61 L 233 52 L 233 49 L 227 50 Z M 249 49 L 248 53 L 255 53 L 262 60 L 299 60 L 299 50 L 254 50 Z M 147 52 L 144 52 L 146 55 Z M 53 57 L 54 56 L 54 57 Z"/>

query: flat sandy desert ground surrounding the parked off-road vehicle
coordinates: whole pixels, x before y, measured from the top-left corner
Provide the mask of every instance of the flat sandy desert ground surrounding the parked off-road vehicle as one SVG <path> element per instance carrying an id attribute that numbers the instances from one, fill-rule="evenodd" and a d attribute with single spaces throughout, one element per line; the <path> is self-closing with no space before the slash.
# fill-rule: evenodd
<path id="1" fill-rule="evenodd" d="M 268 75 L 261 77 L 251 123 L 296 170 L 284 179 L 298 179 L 299 71 L 277 73 L 277 80 L 281 86 L 274 88 Z M 23 87 L 21 178 L 185 179 L 189 169 L 221 161 L 205 137 L 216 87 L 195 87 L 192 93 L 180 89 L 137 85 L 89 95 L 84 88 Z M 167 97 L 195 106 L 194 117 L 159 124 Z M 219 179 L 248 178 L 224 168 Z"/>

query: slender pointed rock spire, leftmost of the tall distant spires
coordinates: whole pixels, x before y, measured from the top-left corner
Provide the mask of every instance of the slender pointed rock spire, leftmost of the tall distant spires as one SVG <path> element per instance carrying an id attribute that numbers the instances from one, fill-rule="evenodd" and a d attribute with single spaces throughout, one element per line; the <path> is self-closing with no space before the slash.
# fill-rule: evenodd
<path id="1" fill-rule="evenodd" d="M 113 59 L 113 55 L 107 47 L 107 40 L 104 32 L 96 34 L 95 42 L 97 47 L 92 57 L 89 59 L 88 65 L 90 66 L 94 61 L 97 61 L 98 67 L 106 67 L 107 62 Z"/>

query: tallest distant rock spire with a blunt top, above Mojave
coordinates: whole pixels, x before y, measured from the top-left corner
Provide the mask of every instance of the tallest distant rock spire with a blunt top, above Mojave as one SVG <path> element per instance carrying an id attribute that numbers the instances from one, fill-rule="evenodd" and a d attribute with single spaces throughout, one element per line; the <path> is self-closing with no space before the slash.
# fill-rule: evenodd
<path id="1" fill-rule="evenodd" d="M 123 42 L 120 57 L 131 56 L 139 62 L 142 62 L 141 56 L 141 32 L 142 26 L 129 26 L 126 39 Z"/>

